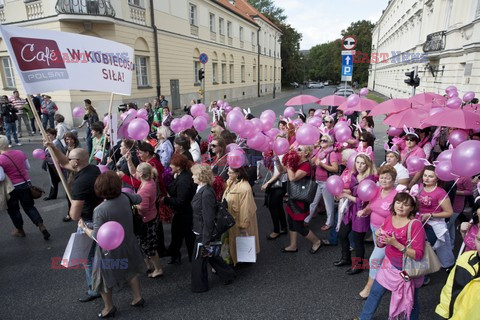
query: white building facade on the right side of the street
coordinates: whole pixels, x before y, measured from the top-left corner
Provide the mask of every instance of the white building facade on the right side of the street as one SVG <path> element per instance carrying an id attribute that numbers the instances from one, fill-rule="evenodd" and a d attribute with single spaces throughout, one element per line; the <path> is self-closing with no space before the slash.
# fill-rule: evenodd
<path id="1" fill-rule="evenodd" d="M 416 93 L 460 96 L 480 90 L 480 0 L 391 0 L 372 33 L 368 86 L 394 98 L 408 97 L 406 72 L 418 67 Z"/>

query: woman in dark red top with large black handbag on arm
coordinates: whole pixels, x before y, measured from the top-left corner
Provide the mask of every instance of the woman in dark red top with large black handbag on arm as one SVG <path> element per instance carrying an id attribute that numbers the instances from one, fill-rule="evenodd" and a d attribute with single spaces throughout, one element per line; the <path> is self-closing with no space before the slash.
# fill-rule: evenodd
<path id="1" fill-rule="evenodd" d="M 295 152 L 295 151 L 293 151 Z M 294 164 L 290 161 L 286 161 L 285 166 L 287 168 L 288 181 L 297 182 L 302 179 L 310 179 L 310 155 L 312 154 L 312 147 L 306 145 L 300 145 L 297 147 L 296 154 L 298 156 L 298 163 Z M 285 160 L 285 158 L 284 158 Z M 294 168 L 294 166 L 296 168 Z M 292 195 L 289 192 L 288 202 L 286 205 L 287 222 L 290 230 L 290 244 L 282 249 L 284 253 L 298 252 L 297 238 L 300 233 L 307 238 L 311 243 L 310 253 L 315 254 L 322 247 L 322 241 L 305 226 L 304 220 L 308 215 L 310 203 L 293 200 Z"/>

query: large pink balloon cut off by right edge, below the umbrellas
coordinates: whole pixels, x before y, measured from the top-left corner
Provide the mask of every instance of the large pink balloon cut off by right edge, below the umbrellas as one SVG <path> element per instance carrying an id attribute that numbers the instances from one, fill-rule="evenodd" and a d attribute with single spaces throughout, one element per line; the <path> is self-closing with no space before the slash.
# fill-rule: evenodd
<path id="1" fill-rule="evenodd" d="M 453 150 L 452 170 L 460 177 L 473 177 L 480 173 L 480 141 L 468 140 Z"/>

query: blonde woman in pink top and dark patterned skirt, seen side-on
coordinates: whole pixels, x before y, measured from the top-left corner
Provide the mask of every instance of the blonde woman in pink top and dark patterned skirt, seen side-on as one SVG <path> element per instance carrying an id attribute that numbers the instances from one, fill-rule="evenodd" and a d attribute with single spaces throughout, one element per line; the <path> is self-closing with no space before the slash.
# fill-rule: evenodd
<path id="1" fill-rule="evenodd" d="M 142 217 L 142 230 L 136 234 L 140 247 L 143 253 L 147 256 L 145 263 L 150 278 L 157 278 L 163 275 L 162 267 L 160 266 L 160 257 L 157 252 L 157 228 L 158 228 L 158 185 L 155 182 L 158 173 L 149 163 L 142 162 L 137 167 L 137 178 L 142 182 L 137 194 L 142 197 L 142 202 L 135 205 L 138 214 Z"/>

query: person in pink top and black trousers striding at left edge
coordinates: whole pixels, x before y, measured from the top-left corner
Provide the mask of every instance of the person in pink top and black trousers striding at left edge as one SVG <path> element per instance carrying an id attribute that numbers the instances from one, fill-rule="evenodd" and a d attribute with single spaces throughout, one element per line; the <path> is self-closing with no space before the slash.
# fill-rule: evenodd
<path id="1" fill-rule="evenodd" d="M 0 167 L 3 168 L 3 171 L 12 181 L 15 188 L 10 192 L 10 199 L 7 201 L 8 215 L 15 226 L 12 236 L 25 237 L 22 214 L 20 213 L 21 204 L 27 216 L 43 234 L 43 238 L 48 240 L 50 233 L 45 228 L 43 219 L 37 208 L 35 208 L 32 192 L 30 191 L 32 183 L 28 174 L 30 164 L 27 156 L 23 151 L 9 150 L 8 139 L 5 136 L 0 136 Z"/>

